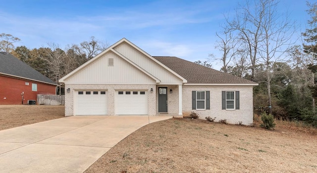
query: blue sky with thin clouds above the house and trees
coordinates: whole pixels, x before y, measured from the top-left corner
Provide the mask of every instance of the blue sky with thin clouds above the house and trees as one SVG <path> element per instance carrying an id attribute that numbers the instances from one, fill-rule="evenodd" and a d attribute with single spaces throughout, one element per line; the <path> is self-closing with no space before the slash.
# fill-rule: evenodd
<path id="1" fill-rule="evenodd" d="M 153 56 L 189 61 L 218 54 L 215 33 L 244 0 L 1 0 L 0 33 L 21 39 L 28 48 L 88 41 L 109 45 L 126 38 Z M 314 2 L 313 0 L 309 0 Z M 309 16 L 305 0 L 280 0 L 305 31 Z M 219 64 L 213 67 L 220 69 Z"/>

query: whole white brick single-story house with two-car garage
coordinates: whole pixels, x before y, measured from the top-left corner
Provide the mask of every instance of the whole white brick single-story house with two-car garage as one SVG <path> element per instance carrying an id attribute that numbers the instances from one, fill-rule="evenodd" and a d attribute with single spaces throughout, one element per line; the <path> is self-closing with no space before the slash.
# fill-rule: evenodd
<path id="1" fill-rule="evenodd" d="M 151 56 L 123 38 L 59 80 L 65 116 L 171 115 L 191 111 L 253 123 L 257 83 L 177 57 Z"/>

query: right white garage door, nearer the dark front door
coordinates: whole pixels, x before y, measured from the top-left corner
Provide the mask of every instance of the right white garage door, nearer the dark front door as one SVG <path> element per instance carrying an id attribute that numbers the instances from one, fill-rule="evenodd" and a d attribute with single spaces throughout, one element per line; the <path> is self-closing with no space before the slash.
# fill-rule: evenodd
<path id="1" fill-rule="evenodd" d="M 115 91 L 115 115 L 148 115 L 147 91 Z"/>

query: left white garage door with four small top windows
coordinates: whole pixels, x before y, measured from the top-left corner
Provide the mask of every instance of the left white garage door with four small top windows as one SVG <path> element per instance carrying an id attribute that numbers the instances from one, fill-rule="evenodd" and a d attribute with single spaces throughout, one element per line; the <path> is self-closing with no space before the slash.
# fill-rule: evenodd
<path id="1" fill-rule="evenodd" d="M 107 115 L 107 92 L 75 91 L 75 115 Z"/>

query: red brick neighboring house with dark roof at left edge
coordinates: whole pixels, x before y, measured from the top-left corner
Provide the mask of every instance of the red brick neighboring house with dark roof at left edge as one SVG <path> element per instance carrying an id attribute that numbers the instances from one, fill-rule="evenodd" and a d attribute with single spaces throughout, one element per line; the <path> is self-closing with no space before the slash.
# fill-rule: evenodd
<path id="1" fill-rule="evenodd" d="M 0 52 L 0 105 L 32 103 L 37 94 L 56 94 L 56 86 L 10 53 Z"/>

